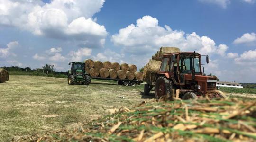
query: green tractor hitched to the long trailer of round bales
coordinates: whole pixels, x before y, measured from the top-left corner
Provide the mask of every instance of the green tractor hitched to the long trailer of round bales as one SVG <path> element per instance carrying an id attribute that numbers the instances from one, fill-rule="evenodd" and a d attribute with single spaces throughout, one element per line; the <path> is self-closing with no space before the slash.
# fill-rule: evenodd
<path id="1" fill-rule="evenodd" d="M 85 63 L 83 62 L 71 62 L 71 70 L 68 70 L 68 84 L 72 85 L 74 83 L 81 83 L 84 85 L 89 85 L 91 83 L 91 78 L 84 70 Z M 70 62 L 68 65 L 71 64 Z"/>

